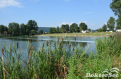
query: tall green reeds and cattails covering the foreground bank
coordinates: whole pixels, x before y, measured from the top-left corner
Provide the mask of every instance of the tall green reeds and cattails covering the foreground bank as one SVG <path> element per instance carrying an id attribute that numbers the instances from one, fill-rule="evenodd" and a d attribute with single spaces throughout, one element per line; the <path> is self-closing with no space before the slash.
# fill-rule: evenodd
<path id="1" fill-rule="evenodd" d="M 50 49 L 51 43 L 46 42 L 38 51 L 33 51 L 28 47 L 27 61 L 21 59 L 18 43 L 16 48 L 1 50 L 0 58 L 0 78 L 1 79 L 99 79 L 86 77 L 87 73 L 101 74 L 105 69 L 118 68 L 121 70 L 121 40 L 120 34 L 114 37 L 97 39 L 97 53 L 88 55 L 82 48 L 75 47 L 70 50 L 71 45 L 63 47 L 63 41 L 59 42 L 54 50 Z M 31 40 L 30 40 L 31 44 Z M 4 62 L 6 60 L 6 62 Z M 25 67 L 22 67 L 22 63 Z M 121 72 L 117 74 L 121 78 Z M 108 73 L 103 73 L 108 74 Z M 100 79 L 116 79 L 115 77 L 100 77 Z"/>

